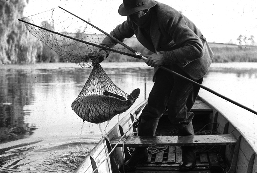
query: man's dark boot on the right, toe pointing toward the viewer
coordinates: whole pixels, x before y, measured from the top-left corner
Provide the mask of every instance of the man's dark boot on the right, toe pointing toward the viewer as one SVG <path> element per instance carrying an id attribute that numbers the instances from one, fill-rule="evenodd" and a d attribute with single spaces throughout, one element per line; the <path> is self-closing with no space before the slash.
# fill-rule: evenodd
<path id="1" fill-rule="evenodd" d="M 180 125 L 178 135 L 194 135 L 192 122 L 188 125 Z M 182 161 L 179 163 L 179 171 L 188 171 L 195 167 L 196 162 L 196 147 L 182 146 Z"/>

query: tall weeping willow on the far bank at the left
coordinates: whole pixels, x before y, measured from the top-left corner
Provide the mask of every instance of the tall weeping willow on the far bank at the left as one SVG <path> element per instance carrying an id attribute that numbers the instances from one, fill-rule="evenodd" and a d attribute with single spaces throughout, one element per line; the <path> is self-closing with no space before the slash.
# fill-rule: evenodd
<path id="1" fill-rule="evenodd" d="M 0 62 L 1 64 L 35 63 L 42 54 L 42 43 L 18 21 L 24 0 L 0 1 Z"/>

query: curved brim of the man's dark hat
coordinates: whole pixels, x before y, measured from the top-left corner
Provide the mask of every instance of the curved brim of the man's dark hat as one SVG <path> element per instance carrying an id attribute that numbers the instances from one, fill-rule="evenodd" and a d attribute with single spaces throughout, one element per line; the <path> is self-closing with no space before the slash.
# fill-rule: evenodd
<path id="1" fill-rule="evenodd" d="M 139 11 L 152 8 L 156 4 L 157 4 L 157 2 L 150 0 L 147 4 L 144 4 L 143 6 L 129 8 L 129 9 L 124 7 L 124 4 L 121 4 L 119 7 L 119 10 L 118 10 L 118 13 L 120 14 L 120 16 L 129 16 L 129 15 L 137 13 Z"/>

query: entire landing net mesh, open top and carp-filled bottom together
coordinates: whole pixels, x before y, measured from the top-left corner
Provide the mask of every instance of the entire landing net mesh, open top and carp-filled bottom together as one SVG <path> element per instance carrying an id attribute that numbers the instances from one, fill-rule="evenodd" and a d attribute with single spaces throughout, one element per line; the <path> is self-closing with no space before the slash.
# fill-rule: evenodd
<path id="1" fill-rule="evenodd" d="M 115 115 L 129 109 L 138 98 L 140 89 L 135 89 L 131 94 L 122 91 L 99 64 L 99 52 L 110 54 L 111 51 L 126 51 L 122 45 L 115 45 L 111 51 L 108 47 L 101 47 L 106 35 L 99 34 L 96 28 L 60 8 L 19 20 L 25 23 L 32 35 L 62 58 L 83 68 L 93 67 L 87 82 L 71 106 L 84 121 L 102 123 L 111 120 Z"/>

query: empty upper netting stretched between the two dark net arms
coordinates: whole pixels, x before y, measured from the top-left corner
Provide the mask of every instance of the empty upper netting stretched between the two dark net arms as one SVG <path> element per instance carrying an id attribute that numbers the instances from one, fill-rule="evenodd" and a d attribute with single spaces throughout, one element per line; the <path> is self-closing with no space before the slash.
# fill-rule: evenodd
<path id="1" fill-rule="evenodd" d="M 54 8 L 21 19 L 33 24 L 24 23 L 32 35 L 45 43 L 67 61 L 76 63 L 84 68 L 93 67 L 93 64 L 98 63 L 99 59 L 96 55 L 101 49 L 72 38 L 100 45 L 106 35 L 81 19 L 67 13 L 61 8 Z M 54 31 L 58 34 L 51 33 L 37 26 Z M 61 34 L 71 38 L 62 36 Z M 115 45 L 114 49 L 129 52 L 128 49 L 120 44 Z M 106 51 L 105 53 L 110 54 L 113 52 Z"/>

